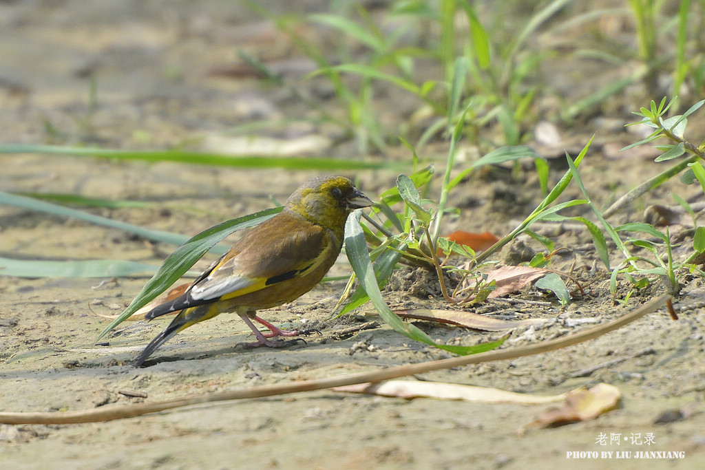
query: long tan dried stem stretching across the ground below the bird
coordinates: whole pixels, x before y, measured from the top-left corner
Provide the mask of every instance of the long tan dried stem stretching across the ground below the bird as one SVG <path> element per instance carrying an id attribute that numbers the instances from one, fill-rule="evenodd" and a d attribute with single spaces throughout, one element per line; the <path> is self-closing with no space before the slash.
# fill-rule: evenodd
<path id="1" fill-rule="evenodd" d="M 479 364 L 488 361 L 503 361 L 515 359 L 517 357 L 541 354 L 543 352 L 558 350 L 563 347 L 576 345 L 579 342 L 592 340 L 605 333 L 625 326 L 627 323 L 642 318 L 642 316 L 655 311 L 661 307 L 668 295 L 662 295 L 650 302 L 634 309 L 630 313 L 621 316 L 601 326 L 590 328 L 582 333 L 569 335 L 555 340 L 540 342 L 536 345 L 510 348 L 506 350 L 494 350 L 473 354 L 471 356 L 451 357 L 439 361 L 422 362 L 421 364 L 407 364 L 404 366 L 390 367 L 379 371 L 353 373 L 347 376 L 321 378 L 311 381 L 299 381 L 292 383 L 278 383 L 274 385 L 263 385 L 260 387 L 247 388 L 245 390 L 233 390 L 230 392 L 205 393 L 199 395 L 189 395 L 173 400 L 163 400 L 152 403 L 138 403 L 130 406 L 111 407 L 105 406 L 98 409 L 78 410 L 75 412 L 48 412 L 48 413 L 0 413 L 0 423 L 6 424 L 73 424 L 73 423 L 97 423 L 101 421 L 111 421 L 114 419 L 131 418 L 148 413 L 163 412 L 167 409 L 185 407 L 192 404 L 221 402 L 228 400 L 243 400 L 245 398 L 271 397 L 273 395 L 284 395 L 288 393 L 309 392 L 312 390 L 322 390 L 325 388 L 342 387 L 343 385 L 355 385 L 356 383 L 381 382 L 392 378 L 411 376 L 417 373 L 427 373 L 440 369 L 450 369 L 451 367 L 467 366 L 469 364 Z"/>

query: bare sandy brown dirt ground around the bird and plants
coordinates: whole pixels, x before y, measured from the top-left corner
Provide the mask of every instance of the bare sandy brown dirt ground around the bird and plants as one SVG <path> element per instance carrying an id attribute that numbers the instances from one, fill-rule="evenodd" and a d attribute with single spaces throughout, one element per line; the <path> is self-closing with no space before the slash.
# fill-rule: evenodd
<path id="1" fill-rule="evenodd" d="M 305 2 L 298 4 L 309 8 Z M 243 145 L 231 132 L 235 126 L 252 120 L 307 116 L 309 110 L 287 89 L 264 87 L 256 78 L 212 73 L 237 62 L 236 47 L 253 54 L 271 54 L 274 60 L 291 56 L 290 44 L 239 2 L 197 5 L 185 1 L 0 2 L 1 140 L 83 142 L 125 149 L 188 144 L 194 149 L 222 150 L 226 144 Z M 297 56 L 293 54 L 293 58 Z M 285 80 L 298 84 L 301 70 L 306 73 L 307 67 L 309 64 L 299 59 L 298 67 L 286 69 Z M 91 76 L 96 79 L 97 99 L 89 111 Z M 324 82 L 302 82 L 301 86 L 324 106 L 334 106 Z M 398 111 L 394 106 L 380 107 L 387 110 L 387 120 L 400 118 L 393 114 Z M 616 107 L 606 106 L 603 115 L 561 130 L 568 142 L 565 146 L 571 149 L 580 149 L 596 134 L 582 173 L 600 206 L 663 170 L 653 163 L 649 151 L 615 153 L 614 149 L 636 139 L 623 132 L 627 114 L 610 113 Z M 295 122 L 283 130 L 259 134 L 273 139 L 271 142 L 278 139 L 277 145 L 296 142 L 312 155 L 357 158 L 354 144 L 331 146 L 340 137 L 336 132 L 326 125 Z M 430 144 L 424 156 L 441 162 L 444 146 Z M 407 151 L 390 149 L 388 158 L 408 158 Z M 145 208 L 95 211 L 135 225 L 188 235 L 269 207 L 269 196 L 283 201 L 303 180 L 318 174 L 30 154 L 6 154 L 0 159 L 1 190 L 147 201 L 152 205 Z M 559 159 L 551 165 L 555 177 L 565 171 Z M 462 228 L 503 234 L 511 230 L 541 198 L 537 180 L 531 176 L 532 166 L 527 163 L 525 169 L 527 176 L 523 177 L 516 172 L 490 171 L 461 183 L 450 201 L 460 208 L 460 216 L 448 218 L 444 232 Z M 396 178 L 391 171 L 361 171 L 350 176 L 357 176 L 362 190 L 373 198 Z M 641 221 L 647 205 L 673 204 L 668 190 L 690 200 L 698 196 L 697 188 L 675 182 L 652 192 L 615 220 Z M 569 192 L 570 197 L 578 196 L 577 190 Z M 589 216 L 583 209 L 575 214 Z M 638 292 L 626 307 L 615 306 L 608 291 L 608 273 L 596 267 L 598 257 L 589 233 L 572 226 L 546 225 L 537 230 L 553 237 L 557 247 L 570 248 L 570 254 L 556 266 L 568 267 L 575 261 L 585 292 L 575 295 L 575 301 L 565 309 L 555 297 L 537 289 L 512 296 L 525 300 L 523 303 L 497 299 L 474 309 L 503 319 L 551 320 L 543 328 L 517 328 L 503 347 L 575 333 L 614 319 L 663 292 L 656 283 Z M 691 242 L 686 236 L 677 256 L 685 253 Z M 522 243 L 540 249 L 535 242 L 523 240 L 496 259 L 510 259 L 509 252 L 521 252 Z M 173 246 L 155 245 L 129 233 L 0 207 L 1 256 L 130 259 L 159 264 L 171 250 Z M 197 267 L 204 268 L 212 259 L 209 256 Z M 333 273 L 343 274 L 347 269 L 341 257 Z M 92 311 L 118 314 L 145 280 L 120 278 L 102 283 L 103 279 L 0 276 L 0 411 L 119 407 L 449 357 L 410 342 L 386 326 L 336 338 L 341 328 L 378 318 L 371 307 L 364 307 L 353 316 L 330 321 L 343 284 L 328 283 L 293 304 L 262 312 L 264 319 L 280 326 L 320 330 L 319 335 L 307 337 L 306 344 L 283 350 L 235 347 L 247 340 L 247 328 L 237 316 L 223 315 L 188 328 L 157 350 L 144 368 L 135 369 L 131 359 L 165 323 L 122 323 L 106 338 L 105 345 L 97 346 L 94 340 L 108 321 Z M 600 382 L 615 385 L 623 396 L 620 406 L 594 421 L 532 429 L 520 436 L 517 430 L 545 405 L 403 400 L 324 390 L 199 405 L 106 423 L 0 424 L 0 467 L 705 468 L 701 404 L 705 391 L 704 286 L 697 276 L 685 280 L 684 295 L 676 302 L 679 321 L 658 311 L 567 350 L 417 377 L 536 395 L 556 395 Z M 385 294 L 395 307 L 446 307 L 433 278 L 423 271 L 400 271 Z M 435 340 L 449 344 L 470 345 L 501 336 L 417 324 Z M 577 373 L 587 369 L 594 371 Z M 127 395 L 122 393 L 125 391 Z M 146 398 L 130 397 L 130 392 L 140 392 Z M 656 423 L 664 412 L 673 410 L 680 410 L 683 419 Z M 654 436 L 653 444 L 635 440 L 648 433 Z M 597 442 L 601 434 L 617 441 L 601 445 Z M 685 457 L 646 462 L 633 458 L 568 459 L 567 452 L 574 451 L 682 451 Z"/>

